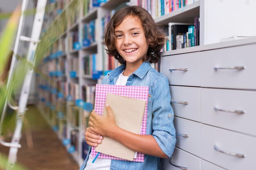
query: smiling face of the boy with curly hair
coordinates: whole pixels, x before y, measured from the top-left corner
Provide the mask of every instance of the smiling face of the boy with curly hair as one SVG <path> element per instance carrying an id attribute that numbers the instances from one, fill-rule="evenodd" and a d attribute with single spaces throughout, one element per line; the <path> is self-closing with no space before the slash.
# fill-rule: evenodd
<path id="1" fill-rule="evenodd" d="M 148 52 L 144 29 L 138 17 L 127 16 L 115 27 L 116 48 L 126 66 L 139 66 Z"/>

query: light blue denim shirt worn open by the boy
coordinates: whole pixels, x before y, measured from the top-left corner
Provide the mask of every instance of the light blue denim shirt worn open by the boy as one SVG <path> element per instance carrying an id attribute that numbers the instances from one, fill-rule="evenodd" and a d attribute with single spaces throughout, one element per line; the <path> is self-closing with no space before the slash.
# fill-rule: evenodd
<path id="1" fill-rule="evenodd" d="M 117 78 L 126 65 L 120 65 L 106 75 L 102 84 L 115 85 Z M 175 129 L 173 126 L 173 108 L 171 107 L 171 94 L 168 79 L 162 73 L 151 68 L 149 62 L 142 63 L 127 80 L 126 85 L 148 86 L 148 118 L 146 135 L 153 135 L 161 150 L 171 157 L 175 143 Z M 90 153 L 90 152 L 89 152 Z M 89 155 L 88 153 L 88 155 Z M 83 170 L 88 160 L 79 170 Z M 96 162 L 95 162 L 96 163 Z M 111 170 L 159 170 L 160 158 L 145 155 L 144 162 L 111 160 Z"/>

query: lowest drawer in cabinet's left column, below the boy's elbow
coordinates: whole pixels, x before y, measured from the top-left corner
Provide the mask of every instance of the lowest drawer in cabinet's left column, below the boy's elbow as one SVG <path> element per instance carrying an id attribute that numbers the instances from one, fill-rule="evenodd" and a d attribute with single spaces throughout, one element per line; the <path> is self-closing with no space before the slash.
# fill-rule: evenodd
<path id="1" fill-rule="evenodd" d="M 187 153 L 179 148 L 175 148 L 171 157 L 171 163 L 173 165 L 169 163 L 169 159 L 161 159 L 161 169 L 180 170 L 180 168 L 175 167 L 180 166 L 188 168 L 189 170 L 200 170 L 200 161 L 201 159 L 199 157 L 191 155 L 190 153 Z"/>

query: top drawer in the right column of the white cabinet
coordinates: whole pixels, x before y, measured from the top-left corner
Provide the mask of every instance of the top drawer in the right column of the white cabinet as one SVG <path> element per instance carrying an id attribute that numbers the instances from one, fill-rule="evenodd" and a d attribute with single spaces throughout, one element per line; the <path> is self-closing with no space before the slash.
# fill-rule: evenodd
<path id="1" fill-rule="evenodd" d="M 256 89 L 255 54 L 255 44 L 201 52 L 202 87 Z M 246 68 L 231 69 L 237 66 Z"/>

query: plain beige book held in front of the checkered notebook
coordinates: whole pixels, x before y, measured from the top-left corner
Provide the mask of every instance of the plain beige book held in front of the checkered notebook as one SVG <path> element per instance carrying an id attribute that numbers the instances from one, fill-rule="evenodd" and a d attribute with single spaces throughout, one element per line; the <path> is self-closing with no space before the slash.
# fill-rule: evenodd
<path id="1" fill-rule="evenodd" d="M 106 104 L 110 105 L 117 126 L 126 131 L 139 134 L 146 101 L 108 93 L 103 116 L 107 116 L 108 114 Z M 95 150 L 100 153 L 130 161 L 133 160 L 135 153 L 134 150 L 127 148 L 120 142 L 109 137 L 103 137 L 101 144 L 99 144 Z"/>

